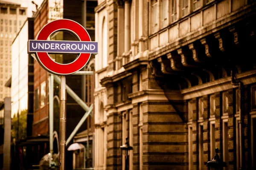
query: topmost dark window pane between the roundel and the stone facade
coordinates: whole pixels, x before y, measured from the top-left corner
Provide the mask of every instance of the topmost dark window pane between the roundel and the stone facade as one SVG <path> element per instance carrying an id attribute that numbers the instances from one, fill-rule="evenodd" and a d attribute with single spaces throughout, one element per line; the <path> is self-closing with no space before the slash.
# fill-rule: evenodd
<path id="1" fill-rule="evenodd" d="M 95 12 L 94 8 L 98 5 L 98 1 L 86 1 L 86 28 L 95 28 Z"/>

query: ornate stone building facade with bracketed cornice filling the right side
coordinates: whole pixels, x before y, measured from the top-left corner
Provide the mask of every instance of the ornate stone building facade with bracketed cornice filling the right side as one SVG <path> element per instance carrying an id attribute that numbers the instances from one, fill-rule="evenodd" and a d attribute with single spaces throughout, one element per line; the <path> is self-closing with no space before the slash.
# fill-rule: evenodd
<path id="1" fill-rule="evenodd" d="M 130 170 L 207 170 L 216 147 L 228 169 L 255 168 L 255 9 L 254 0 L 98 1 L 96 170 L 124 169 L 126 136 Z"/>

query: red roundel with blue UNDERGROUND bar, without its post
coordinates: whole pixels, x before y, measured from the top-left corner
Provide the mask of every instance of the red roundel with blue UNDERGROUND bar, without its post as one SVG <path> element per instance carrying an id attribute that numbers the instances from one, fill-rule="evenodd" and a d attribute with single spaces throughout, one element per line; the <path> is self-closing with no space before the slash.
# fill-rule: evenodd
<path id="1" fill-rule="evenodd" d="M 79 41 L 47 40 L 57 31 L 69 31 Z M 98 54 L 98 42 L 91 41 L 90 35 L 79 23 L 60 19 L 46 24 L 35 40 L 28 41 L 28 53 L 35 53 L 38 63 L 49 73 L 69 75 L 81 70 L 89 61 L 91 54 Z M 53 61 L 48 53 L 78 54 L 78 57 L 71 63 L 61 64 Z"/>

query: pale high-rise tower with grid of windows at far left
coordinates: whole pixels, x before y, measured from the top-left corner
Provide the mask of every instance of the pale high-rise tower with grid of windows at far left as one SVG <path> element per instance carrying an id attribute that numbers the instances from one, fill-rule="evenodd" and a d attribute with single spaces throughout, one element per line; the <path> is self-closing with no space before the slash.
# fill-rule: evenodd
<path id="1" fill-rule="evenodd" d="M 10 96 L 4 85 L 12 74 L 11 46 L 27 18 L 27 8 L 20 4 L 0 0 L 0 101 Z"/>

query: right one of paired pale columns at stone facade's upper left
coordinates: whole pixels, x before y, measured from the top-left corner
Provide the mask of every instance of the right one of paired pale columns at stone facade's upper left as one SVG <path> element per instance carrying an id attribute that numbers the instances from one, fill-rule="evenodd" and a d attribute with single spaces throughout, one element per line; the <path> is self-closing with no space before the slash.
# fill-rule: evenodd
<path id="1" fill-rule="evenodd" d="M 125 53 L 131 49 L 131 4 L 125 0 Z"/>

